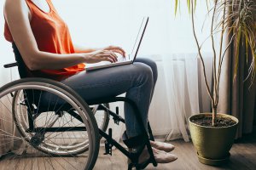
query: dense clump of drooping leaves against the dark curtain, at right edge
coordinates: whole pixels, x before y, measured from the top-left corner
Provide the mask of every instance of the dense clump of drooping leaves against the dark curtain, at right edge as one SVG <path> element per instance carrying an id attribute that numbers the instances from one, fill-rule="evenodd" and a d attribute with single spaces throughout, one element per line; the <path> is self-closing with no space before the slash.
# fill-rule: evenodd
<path id="1" fill-rule="evenodd" d="M 230 2 L 231 3 L 231 2 Z M 246 60 L 248 62 L 248 54 L 253 55 L 252 62 L 250 63 L 249 74 L 251 74 L 251 81 L 253 83 L 253 79 L 256 73 L 255 67 L 255 51 L 256 51 L 256 19 L 253 14 L 256 14 L 256 4 L 253 0 L 240 0 L 233 1 L 230 6 L 230 15 L 228 21 L 232 21 L 230 26 L 230 30 L 232 30 L 232 34 L 235 36 L 235 54 L 236 61 L 239 61 L 239 48 L 240 45 L 244 45 L 246 48 Z M 238 69 L 238 62 L 236 62 L 235 68 L 235 76 Z"/>

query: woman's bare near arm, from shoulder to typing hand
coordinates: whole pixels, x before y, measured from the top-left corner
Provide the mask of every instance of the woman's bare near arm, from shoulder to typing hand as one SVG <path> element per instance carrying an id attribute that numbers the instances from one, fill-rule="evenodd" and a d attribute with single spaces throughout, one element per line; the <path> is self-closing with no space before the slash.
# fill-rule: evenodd
<path id="1" fill-rule="evenodd" d="M 115 62 L 117 59 L 117 56 L 108 50 L 82 54 L 51 54 L 40 51 L 32 33 L 29 9 L 24 0 L 6 0 L 4 15 L 22 59 L 32 71 L 61 69 L 79 63 L 96 63 L 102 60 Z"/>

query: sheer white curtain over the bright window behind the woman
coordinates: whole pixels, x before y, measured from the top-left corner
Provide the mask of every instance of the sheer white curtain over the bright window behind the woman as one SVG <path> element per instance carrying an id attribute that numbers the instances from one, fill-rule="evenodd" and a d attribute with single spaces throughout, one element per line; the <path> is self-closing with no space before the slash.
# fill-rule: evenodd
<path id="1" fill-rule="evenodd" d="M 148 28 L 139 50 L 140 56 L 154 59 L 159 69 L 149 121 L 154 135 L 166 140 L 189 141 L 188 117 L 199 113 L 200 106 L 201 111 L 209 111 L 210 103 L 203 95 L 206 93 L 199 74 L 201 70 L 186 1 L 182 1 L 177 16 L 174 14 L 174 0 L 53 2 L 67 21 L 73 42 L 88 47 L 119 45 L 127 53 L 131 52 L 143 16 L 149 16 Z M 201 42 L 209 33 L 206 15 L 205 1 L 198 2 L 195 17 L 196 23 L 199 23 L 196 29 Z M 204 21 L 206 31 L 201 31 L 200 26 Z M 204 47 L 210 45 L 207 41 Z M 211 65 L 210 50 L 204 48 L 207 66 Z M 211 77 L 211 69 L 207 70 L 207 75 Z M 118 128 L 116 138 L 120 133 Z"/>

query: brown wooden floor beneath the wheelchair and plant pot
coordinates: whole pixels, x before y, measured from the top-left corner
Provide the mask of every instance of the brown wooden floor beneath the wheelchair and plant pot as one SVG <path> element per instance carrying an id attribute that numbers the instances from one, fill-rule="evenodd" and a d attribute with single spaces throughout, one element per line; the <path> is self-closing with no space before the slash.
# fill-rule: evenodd
<path id="1" fill-rule="evenodd" d="M 223 167 L 211 167 L 201 164 L 197 160 L 196 151 L 193 144 L 185 143 L 183 140 L 172 141 L 176 149 L 172 151 L 177 155 L 177 161 L 168 164 L 159 164 L 158 167 L 149 165 L 146 169 L 160 170 L 256 170 L 256 131 L 253 134 L 245 136 L 236 141 L 230 150 L 230 161 Z M 34 151 L 33 151 L 34 150 Z M 119 152 L 113 150 L 113 156 L 103 155 L 104 148 L 101 147 L 94 170 L 123 170 L 127 169 L 127 158 Z M 0 170 L 73 170 L 73 165 L 84 166 L 84 160 L 87 159 L 87 152 L 78 157 L 67 156 L 44 156 L 36 149 L 30 147 L 26 150 L 26 156 L 17 156 L 9 154 L 0 158 Z"/>

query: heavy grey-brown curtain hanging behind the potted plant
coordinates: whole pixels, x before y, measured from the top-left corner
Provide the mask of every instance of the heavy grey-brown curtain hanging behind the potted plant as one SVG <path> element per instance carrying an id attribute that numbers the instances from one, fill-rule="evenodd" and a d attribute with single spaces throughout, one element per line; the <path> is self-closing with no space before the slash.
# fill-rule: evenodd
<path id="1" fill-rule="evenodd" d="M 230 37 L 227 37 L 230 42 Z M 230 46 L 229 53 L 224 57 L 223 71 L 219 85 L 218 112 L 228 113 L 236 116 L 239 120 L 236 139 L 241 138 L 243 133 L 253 132 L 253 119 L 255 119 L 255 95 L 256 79 L 251 82 L 248 77 L 249 63 L 252 54 L 246 59 L 246 47 L 240 45 L 238 60 L 235 56 L 234 42 Z M 234 77 L 235 65 L 238 63 L 237 75 Z"/>

